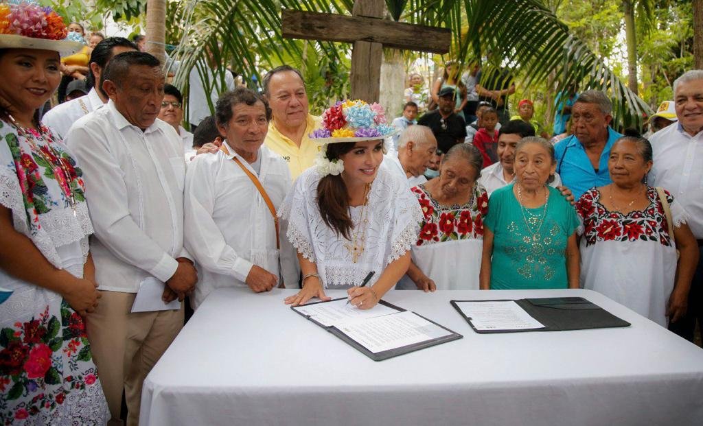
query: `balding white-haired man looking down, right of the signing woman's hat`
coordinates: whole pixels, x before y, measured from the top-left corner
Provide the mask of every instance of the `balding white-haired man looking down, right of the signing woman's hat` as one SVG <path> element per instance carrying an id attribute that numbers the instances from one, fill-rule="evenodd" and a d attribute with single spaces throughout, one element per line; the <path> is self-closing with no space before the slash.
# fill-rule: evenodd
<path id="1" fill-rule="evenodd" d="M 405 176 L 412 188 L 427 182 L 423 173 L 436 150 L 437 139 L 434 138 L 430 127 L 415 124 L 401 133 L 398 140 L 398 158 L 386 155 L 382 164 L 387 164 L 391 172 Z"/>

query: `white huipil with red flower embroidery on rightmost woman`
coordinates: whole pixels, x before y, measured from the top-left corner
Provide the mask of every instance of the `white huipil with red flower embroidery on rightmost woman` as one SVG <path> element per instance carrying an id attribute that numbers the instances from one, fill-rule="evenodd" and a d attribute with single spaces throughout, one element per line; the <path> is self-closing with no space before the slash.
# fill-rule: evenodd
<path id="1" fill-rule="evenodd" d="M 647 188 L 643 211 L 610 212 L 591 188 L 576 202 L 581 220 L 581 285 L 666 326 L 666 305 L 676 276 L 676 247 L 657 190 Z M 688 214 L 666 192 L 673 225 Z"/>

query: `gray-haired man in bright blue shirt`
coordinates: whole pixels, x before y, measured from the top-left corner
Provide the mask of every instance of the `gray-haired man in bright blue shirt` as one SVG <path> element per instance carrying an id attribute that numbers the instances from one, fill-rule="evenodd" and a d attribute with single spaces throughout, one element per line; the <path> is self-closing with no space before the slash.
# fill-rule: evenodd
<path id="1" fill-rule="evenodd" d="M 587 90 L 572 107 L 572 131 L 554 147 L 557 173 L 578 200 L 588 188 L 610 183 L 608 158 L 613 143 L 622 136 L 610 127 L 612 104 L 605 93 Z"/>

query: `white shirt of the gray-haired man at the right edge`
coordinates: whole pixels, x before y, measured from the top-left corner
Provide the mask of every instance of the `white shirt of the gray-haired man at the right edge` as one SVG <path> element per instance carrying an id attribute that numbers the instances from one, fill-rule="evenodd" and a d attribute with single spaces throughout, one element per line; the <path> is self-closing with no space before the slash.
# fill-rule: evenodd
<path id="1" fill-rule="evenodd" d="M 669 191 L 688 212 L 695 238 L 703 238 L 703 131 L 691 136 L 675 123 L 657 131 L 650 142 L 654 164 L 647 183 Z"/>

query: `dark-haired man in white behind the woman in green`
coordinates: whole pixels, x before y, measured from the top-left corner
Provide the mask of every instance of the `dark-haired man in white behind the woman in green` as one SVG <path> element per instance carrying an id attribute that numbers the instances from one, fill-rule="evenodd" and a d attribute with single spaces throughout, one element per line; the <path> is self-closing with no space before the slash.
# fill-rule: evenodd
<path id="1" fill-rule="evenodd" d="M 486 188 L 489 197 L 493 191 L 503 188 L 515 179 L 515 170 L 513 169 L 515 148 L 520 139 L 527 136 L 534 136 L 534 127 L 523 120 L 510 120 L 498 130 L 498 159 L 500 161 L 485 167 L 479 177 L 479 183 Z M 554 179 L 549 185 L 556 188 L 561 184 L 559 174 L 555 173 Z"/>

